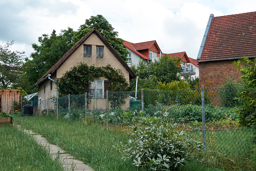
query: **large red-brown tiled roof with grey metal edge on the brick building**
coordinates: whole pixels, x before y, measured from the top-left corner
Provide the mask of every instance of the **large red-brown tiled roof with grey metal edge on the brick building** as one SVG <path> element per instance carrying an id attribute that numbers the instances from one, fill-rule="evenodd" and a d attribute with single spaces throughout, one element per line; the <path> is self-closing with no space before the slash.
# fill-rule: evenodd
<path id="1" fill-rule="evenodd" d="M 256 56 L 256 12 L 210 15 L 198 53 L 199 62 Z"/>

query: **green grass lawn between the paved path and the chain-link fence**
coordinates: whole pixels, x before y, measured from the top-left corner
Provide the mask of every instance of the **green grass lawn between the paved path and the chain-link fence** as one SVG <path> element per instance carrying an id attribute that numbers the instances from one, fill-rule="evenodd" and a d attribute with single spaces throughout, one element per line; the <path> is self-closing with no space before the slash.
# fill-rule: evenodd
<path id="1" fill-rule="evenodd" d="M 82 121 L 14 115 L 14 123 L 40 133 L 51 143 L 74 155 L 98 171 L 141 171 L 132 165 L 132 159 L 124 161 L 122 154 L 112 149 L 120 141 L 129 139 L 126 133 L 108 131 L 101 125 L 85 125 Z M 194 162 L 187 162 L 182 171 L 216 171 Z"/>

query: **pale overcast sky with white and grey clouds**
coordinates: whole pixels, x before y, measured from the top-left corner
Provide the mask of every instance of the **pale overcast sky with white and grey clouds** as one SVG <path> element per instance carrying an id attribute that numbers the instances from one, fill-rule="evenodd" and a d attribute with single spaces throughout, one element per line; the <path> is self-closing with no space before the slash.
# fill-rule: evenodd
<path id="1" fill-rule="evenodd" d="M 156 40 L 162 53 L 186 52 L 196 59 L 210 14 L 256 11 L 256 0 L 1 0 L 0 42 L 33 52 L 38 37 L 56 30 L 75 31 L 101 14 L 132 43 Z"/>

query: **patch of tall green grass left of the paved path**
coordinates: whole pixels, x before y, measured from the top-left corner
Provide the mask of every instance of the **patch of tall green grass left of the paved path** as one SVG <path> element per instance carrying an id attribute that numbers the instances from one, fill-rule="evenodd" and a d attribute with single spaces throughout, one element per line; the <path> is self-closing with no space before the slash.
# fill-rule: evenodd
<path id="1" fill-rule="evenodd" d="M 49 151 L 17 127 L 0 126 L 1 171 L 62 171 Z"/>

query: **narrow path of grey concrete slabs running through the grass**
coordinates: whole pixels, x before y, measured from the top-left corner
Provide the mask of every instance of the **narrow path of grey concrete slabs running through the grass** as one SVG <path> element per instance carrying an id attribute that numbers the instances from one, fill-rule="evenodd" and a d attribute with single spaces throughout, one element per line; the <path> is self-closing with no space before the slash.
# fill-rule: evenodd
<path id="1" fill-rule="evenodd" d="M 22 129 L 20 125 L 16 125 L 18 128 Z M 73 156 L 67 154 L 63 149 L 58 147 L 57 145 L 50 144 L 46 138 L 42 137 L 34 133 L 33 131 L 29 131 L 23 129 L 26 133 L 30 134 L 34 139 L 43 147 L 50 150 L 50 156 L 52 159 L 56 157 L 59 158 L 62 163 L 62 167 L 65 171 L 93 171 L 93 169 L 84 164 L 82 161 L 75 159 Z"/>

